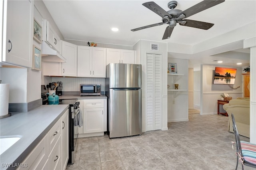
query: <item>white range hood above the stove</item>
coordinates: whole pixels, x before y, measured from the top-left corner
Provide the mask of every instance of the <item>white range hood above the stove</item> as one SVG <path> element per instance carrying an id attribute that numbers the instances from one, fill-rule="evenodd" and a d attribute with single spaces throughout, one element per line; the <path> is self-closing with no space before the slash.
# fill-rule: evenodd
<path id="1" fill-rule="evenodd" d="M 66 62 L 66 59 L 55 49 L 50 47 L 45 41 L 42 41 L 42 61 Z"/>

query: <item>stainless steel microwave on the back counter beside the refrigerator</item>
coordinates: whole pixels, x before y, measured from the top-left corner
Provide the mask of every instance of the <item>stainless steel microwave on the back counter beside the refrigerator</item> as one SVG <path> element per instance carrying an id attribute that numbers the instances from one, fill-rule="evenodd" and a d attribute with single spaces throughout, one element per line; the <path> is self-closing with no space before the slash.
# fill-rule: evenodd
<path id="1" fill-rule="evenodd" d="M 100 84 L 80 84 L 80 96 L 100 96 Z"/>

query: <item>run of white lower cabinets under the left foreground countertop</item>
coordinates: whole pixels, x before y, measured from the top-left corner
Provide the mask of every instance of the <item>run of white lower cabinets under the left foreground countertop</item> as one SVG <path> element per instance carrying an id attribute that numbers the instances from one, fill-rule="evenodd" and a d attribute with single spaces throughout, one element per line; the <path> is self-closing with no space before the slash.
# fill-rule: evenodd
<path id="1" fill-rule="evenodd" d="M 68 109 L 24 159 L 24 167 L 18 170 L 65 170 L 67 161 Z"/>

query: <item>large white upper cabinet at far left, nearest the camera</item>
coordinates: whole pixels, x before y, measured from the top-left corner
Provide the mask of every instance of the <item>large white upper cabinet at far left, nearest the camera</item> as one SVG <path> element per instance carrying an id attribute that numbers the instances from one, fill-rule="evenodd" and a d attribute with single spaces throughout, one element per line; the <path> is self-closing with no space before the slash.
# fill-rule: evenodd
<path id="1" fill-rule="evenodd" d="M 34 1 L 4 0 L 2 61 L 32 67 Z"/>

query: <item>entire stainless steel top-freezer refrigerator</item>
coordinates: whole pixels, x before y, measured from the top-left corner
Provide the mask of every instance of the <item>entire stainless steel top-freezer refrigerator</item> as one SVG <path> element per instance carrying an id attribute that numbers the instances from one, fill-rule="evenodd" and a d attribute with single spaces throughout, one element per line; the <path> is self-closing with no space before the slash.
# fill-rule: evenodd
<path id="1" fill-rule="evenodd" d="M 142 134 L 141 65 L 106 66 L 109 138 Z"/>

